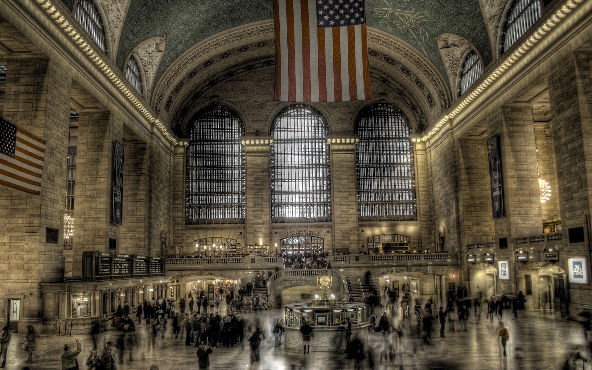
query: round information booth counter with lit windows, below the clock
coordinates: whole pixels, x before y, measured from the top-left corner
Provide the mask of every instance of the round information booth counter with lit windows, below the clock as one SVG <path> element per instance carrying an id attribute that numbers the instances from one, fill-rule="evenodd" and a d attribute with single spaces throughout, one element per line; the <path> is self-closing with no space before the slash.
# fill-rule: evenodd
<path id="1" fill-rule="evenodd" d="M 346 349 L 345 318 L 352 323 L 352 337 L 356 334 L 364 345 L 368 342 L 366 307 L 362 303 L 342 303 L 337 300 L 316 300 L 308 303 L 285 305 L 286 348 L 303 350 L 300 325 L 315 321 L 314 337 L 310 339 L 310 350 L 315 352 L 343 351 Z"/>

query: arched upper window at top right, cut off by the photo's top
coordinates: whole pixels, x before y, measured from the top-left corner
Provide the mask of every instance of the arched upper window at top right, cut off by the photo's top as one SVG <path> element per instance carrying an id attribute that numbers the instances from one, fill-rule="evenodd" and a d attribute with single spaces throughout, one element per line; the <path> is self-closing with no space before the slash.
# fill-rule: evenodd
<path id="1" fill-rule="evenodd" d="M 506 24 L 504 25 L 503 52 L 507 52 L 539 20 L 542 14 L 542 1 L 514 0 L 514 4 L 512 4 L 508 12 Z"/>

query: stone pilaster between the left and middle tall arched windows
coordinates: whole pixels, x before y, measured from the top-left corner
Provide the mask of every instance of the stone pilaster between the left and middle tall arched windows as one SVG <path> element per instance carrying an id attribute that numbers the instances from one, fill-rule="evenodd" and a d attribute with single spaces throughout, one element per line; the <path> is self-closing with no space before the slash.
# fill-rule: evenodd
<path id="1" fill-rule="evenodd" d="M 271 240 L 271 144 L 272 136 L 243 136 L 245 170 L 246 244 Z"/>

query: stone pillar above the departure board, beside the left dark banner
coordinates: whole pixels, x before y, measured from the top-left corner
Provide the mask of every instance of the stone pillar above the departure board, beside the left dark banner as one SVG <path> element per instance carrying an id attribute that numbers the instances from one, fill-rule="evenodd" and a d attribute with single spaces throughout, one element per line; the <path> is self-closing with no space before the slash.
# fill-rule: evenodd
<path id="1" fill-rule="evenodd" d="M 83 252 L 115 253 L 109 239 L 120 243 L 120 226 L 112 224 L 112 188 L 115 140 L 123 143 L 123 122 L 110 112 L 80 112 L 78 125 L 72 276 L 82 276 Z"/>

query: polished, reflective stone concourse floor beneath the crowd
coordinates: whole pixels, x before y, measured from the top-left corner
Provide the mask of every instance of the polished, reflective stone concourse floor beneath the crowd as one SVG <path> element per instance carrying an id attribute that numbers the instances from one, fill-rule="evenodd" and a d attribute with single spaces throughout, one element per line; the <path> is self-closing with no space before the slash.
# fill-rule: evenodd
<path id="1" fill-rule="evenodd" d="M 220 307 L 221 309 L 223 307 Z M 379 311 L 375 312 L 379 316 Z M 392 313 L 390 313 L 392 314 Z M 472 313 L 471 313 L 472 314 Z M 503 318 L 506 327 L 510 330 L 508 356 L 501 355 L 501 345 L 496 333 L 498 321 L 490 323 L 482 315 L 481 323 L 475 323 L 475 317 L 469 317 L 468 330 L 466 332 L 452 332 L 446 327 L 446 337 L 439 335 L 440 324 L 434 321 L 432 343 L 427 345 L 420 343 L 413 335 L 413 315 L 406 323 L 403 320 L 404 335 L 400 345 L 395 349 L 395 358 L 392 362 L 385 360 L 379 362 L 382 336 L 380 333 L 368 334 L 368 347 L 366 359 L 361 363 L 363 369 L 562 369 L 567 354 L 575 348 L 583 348 L 583 327 L 570 320 L 564 320 L 558 313 L 551 311 L 519 311 L 519 318 L 513 320 L 511 311 L 505 311 Z M 273 370 L 332 370 L 353 369 L 354 364 L 344 353 L 310 352 L 303 355 L 301 352 L 285 349 L 283 346 L 275 348 L 271 334 L 272 321 L 282 315 L 281 310 L 259 311 L 258 315 L 251 312 L 243 313 L 247 323 L 260 320 L 268 329 L 265 340 L 260 348 L 261 361 L 250 365 L 249 346 L 245 343 L 244 349 L 239 345 L 233 348 L 214 348 L 210 355 L 210 369 L 273 369 Z M 395 313 L 395 318 L 400 317 Z M 169 320 L 170 322 L 170 320 Z M 165 338 L 160 336 L 156 340 L 156 348 L 148 349 L 147 337 L 149 327 L 142 323 L 136 326 L 137 346 L 133 352 L 133 362 L 128 362 L 128 356 L 124 353 L 124 364 L 119 365 L 119 370 L 149 369 L 157 365 L 160 370 L 169 369 L 197 369 L 197 356 L 193 347 L 184 346 L 184 340 L 173 339 L 170 336 L 172 330 L 167 330 Z M 108 331 L 101 333 L 96 338 L 99 345 L 107 340 L 115 340 L 117 333 Z M 82 352 L 78 356 L 81 370 L 88 358 L 92 338 L 89 335 L 79 336 L 82 343 Z M 36 339 L 37 350 L 34 351 L 34 362 L 25 364 L 27 353 L 21 348 L 22 334 L 13 333 L 12 342 L 8 349 L 8 369 L 22 369 L 29 365 L 36 369 L 60 369 L 60 355 L 65 343 L 74 343 L 74 337 L 56 336 L 54 334 L 40 334 Z M 311 342 L 314 348 L 314 338 Z M 522 358 L 516 358 L 519 353 L 516 347 L 522 348 Z M 416 348 L 416 356 L 413 356 Z M 583 349 L 581 349 L 583 350 Z M 586 353 L 586 352 L 582 352 Z M 588 356 L 587 354 L 585 356 Z M 369 363 L 372 358 L 374 364 Z M 580 361 L 578 369 L 582 369 Z M 584 370 L 591 370 L 589 363 Z"/>

